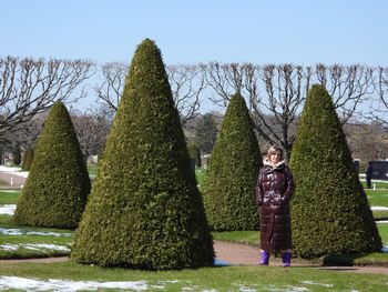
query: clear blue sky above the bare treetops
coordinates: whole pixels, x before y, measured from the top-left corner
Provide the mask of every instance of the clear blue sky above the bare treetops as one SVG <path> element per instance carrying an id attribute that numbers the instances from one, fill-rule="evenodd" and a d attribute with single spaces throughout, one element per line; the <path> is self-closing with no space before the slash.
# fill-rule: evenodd
<path id="1" fill-rule="evenodd" d="M 0 0 L 0 57 L 387 66 L 386 0 Z"/>

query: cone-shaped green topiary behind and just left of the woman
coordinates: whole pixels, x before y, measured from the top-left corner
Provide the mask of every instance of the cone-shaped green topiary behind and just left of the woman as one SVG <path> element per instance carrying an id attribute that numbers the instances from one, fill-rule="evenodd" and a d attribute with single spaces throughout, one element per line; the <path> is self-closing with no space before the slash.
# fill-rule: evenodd
<path id="1" fill-rule="evenodd" d="M 245 101 L 232 97 L 213 148 L 204 183 L 204 204 L 214 230 L 257 230 L 256 181 L 261 150 Z"/>

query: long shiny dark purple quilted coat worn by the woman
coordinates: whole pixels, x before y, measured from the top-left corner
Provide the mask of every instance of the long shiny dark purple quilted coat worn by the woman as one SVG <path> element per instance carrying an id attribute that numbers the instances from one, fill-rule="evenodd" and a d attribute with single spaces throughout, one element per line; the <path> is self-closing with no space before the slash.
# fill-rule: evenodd
<path id="1" fill-rule="evenodd" d="M 292 248 L 289 200 L 293 193 L 293 174 L 284 161 L 276 167 L 265 163 L 256 188 L 262 250 L 280 251 Z"/>

